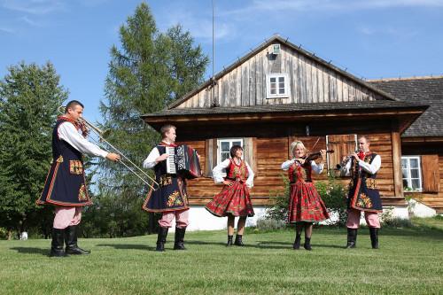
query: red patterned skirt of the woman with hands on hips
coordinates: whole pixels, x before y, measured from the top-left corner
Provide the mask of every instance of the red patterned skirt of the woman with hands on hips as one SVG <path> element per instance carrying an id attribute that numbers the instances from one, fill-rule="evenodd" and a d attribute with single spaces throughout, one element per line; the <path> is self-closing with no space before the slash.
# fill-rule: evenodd
<path id="1" fill-rule="evenodd" d="M 206 210 L 215 216 L 253 216 L 253 203 L 245 183 L 232 182 L 225 185 L 213 200 L 206 204 Z"/>

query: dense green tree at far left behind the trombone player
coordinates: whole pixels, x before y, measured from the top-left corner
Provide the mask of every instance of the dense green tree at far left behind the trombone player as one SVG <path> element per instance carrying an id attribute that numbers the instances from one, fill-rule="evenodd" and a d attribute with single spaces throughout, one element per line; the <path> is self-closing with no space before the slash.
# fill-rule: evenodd
<path id="1" fill-rule="evenodd" d="M 0 81 L 0 227 L 11 232 L 27 229 L 37 216 L 35 199 L 52 159 L 52 127 L 68 94 L 49 62 L 21 62 L 8 71 Z"/>

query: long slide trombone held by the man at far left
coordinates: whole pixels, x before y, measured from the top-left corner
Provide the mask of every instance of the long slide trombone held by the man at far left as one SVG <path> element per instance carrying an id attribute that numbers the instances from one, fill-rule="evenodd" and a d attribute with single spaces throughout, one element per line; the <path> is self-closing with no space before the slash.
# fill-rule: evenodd
<path id="1" fill-rule="evenodd" d="M 65 106 L 64 105 L 60 105 L 58 107 L 58 112 L 65 114 Z M 128 157 L 126 157 L 121 151 L 119 151 L 115 146 L 113 146 L 113 144 L 109 143 L 106 139 L 105 139 L 105 132 L 102 131 L 100 128 L 97 128 L 97 126 L 95 126 L 94 124 L 90 123 L 88 120 L 84 119 L 83 117 L 80 117 L 78 119 L 79 123 L 82 125 L 82 132 L 83 135 L 88 135 L 89 131 L 93 131 L 96 133 L 96 135 L 100 138 L 100 142 L 105 142 L 105 144 L 107 144 L 111 149 L 113 149 L 114 151 L 116 151 L 118 154 L 120 154 L 122 159 L 126 159 L 129 164 L 132 166 L 130 167 L 128 164 L 126 164 L 124 161 L 120 160 L 119 163 L 121 165 L 123 165 L 124 167 L 126 167 L 130 172 L 132 172 L 132 174 L 136 175 L 138 178 L 140 178 L 142 180 L 142 182 L 144 182 L 145 184 L 147 184 L 152 190 L 157 190 L 154 185 L 156 185 L 157 187 L 159 187 L 159 182 L 156 182 L 155 179 L 153 179 L 150 175 L 148 175 L 146 172 L 144 172 L 144 170 L 142 170 L 142 168 L 136 166 L 136 164 L 131 161 L 130 159 L 128 159 Z M 100 143 L 97 142 L 97 140 L 94 139 L 94 141 L 96 142 L 96 144 L 101 145 Z M 148 177 L 151 181 L 152 184 L 147 182 L 142 175 L 139 175 L 135 170 L 138 170 L 138 173 L 142 173 L 144 176 Z"/>

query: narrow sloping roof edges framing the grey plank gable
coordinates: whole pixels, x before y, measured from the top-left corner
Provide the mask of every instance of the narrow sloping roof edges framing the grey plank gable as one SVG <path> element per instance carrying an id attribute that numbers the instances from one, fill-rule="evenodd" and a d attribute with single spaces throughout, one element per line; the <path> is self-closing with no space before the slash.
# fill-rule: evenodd
<path id="1" fill-rule="evenodd" d="M 305 56 L 305 57 L 307 57 L 307 58 L 309 58 L 311 60 L 315 60 L 315 62 L 318 62 L 319 64 L 325 66 L 326 68 L 329 68 L 331 71 L 336 72 L 336 73 L 346 77 L 347 79 L 349 79 L 349 80 L 351 80 L 353 82 L 356 82 L 357 84 L 361 85 L 362 87 L 364 87 L 366 89 L 370 89 L 370 90 L 378 93 L 379 95 L 385 97 L 386 99 L 396 100 L 395 97 L 392 97 L 391 94 L 383 91 L 383 89 L 379 89 L 379 88 L 373 87 L 373 85 L 369 84 L 368 82 L 365 82 L 365 81 L 361 80 L 360 78 L 355 77 L 353 74 L 349 74 L 345 70 L 340 69 L 338 66 L 334 66 L 330 62 L 327 62 L 326 60 L 324 60 L 323 58 L 319 58 L 319 57 L 315 56 L 314 53 L 311 53 L 311 52 L 301 48 L 301 45 L 298 46 L 298 45 L 296 45 L 294 43 L 291 43 L 287 39 L 284 39 L 283 37 L 281 37 L 280 35 L 273 35 L 267 41 L 265 41 L 264 43 L 261 43 L 259 46 L 257 46 L 254 50 L 251 50 L 243 58 L 238 58 L 235 63 L 233 63 L 232 65 L 230 65 L 230 66 L 228 66 L 226 68 L 224 68 L 218 74 L 215 74 L 214 80 L 218 81 L 222 76 L 224 76 L 225 74 L 228 74 L 230 71 L 232 71 L 233 69 L 237 68 L 238 66 L 243 64 L 246 60 L 252 58 L 254 55 L 259 53 L 261 50 L 264 50 L 265 48 L 267 48 L 269 45 L 271 45 L 273 43 L 282 43 L 282 44 L 288 46 L 289 48 L 291 48 L 292 50 L 297 51 L 299 54 L 301 54 L 301 55 L 303 55 L 303 56 Z M 192 97 L 195 94 L 197 94 L 199 91 L 201 91 L 203 89 L 206 89 L 207 87 L 210 87 L 212 85 L 212 83 L 213 83 L 212 79 L 209 79 L 206 82 L 203 82 L 197 89 L 193 89 L 189 93 L 185 94 L 183 97 L 175 100 L 175 102 L 173 102 L 172 104 L 168 105 L 167 109 L 173 109 L 177 105 L 181 105 L 183 102 L 185 102 L 187 99 L 189 99 L 190 97 Z"/>

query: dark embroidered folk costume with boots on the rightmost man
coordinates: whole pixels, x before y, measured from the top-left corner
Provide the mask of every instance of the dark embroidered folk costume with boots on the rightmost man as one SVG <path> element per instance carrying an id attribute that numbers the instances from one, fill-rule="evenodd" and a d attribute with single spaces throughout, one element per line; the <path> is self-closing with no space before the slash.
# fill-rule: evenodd
<path id="1" fill-rule="evenodd" d="M 349 194 L 347 197 L 347 245 L 354 248 L 357 229 L 360 227 L 361 211 L 365 214 L 372 248 L 378 248 L 378 229 L 380 221 L 378 213 L 383 212 L 382 200 L 377 190 L 377 171 L 381 167 L 381 158 L 372 151 L 360 151 L 358 159 L 352 158 L 342 168 L 342 173 L 351 175 Z"/>

